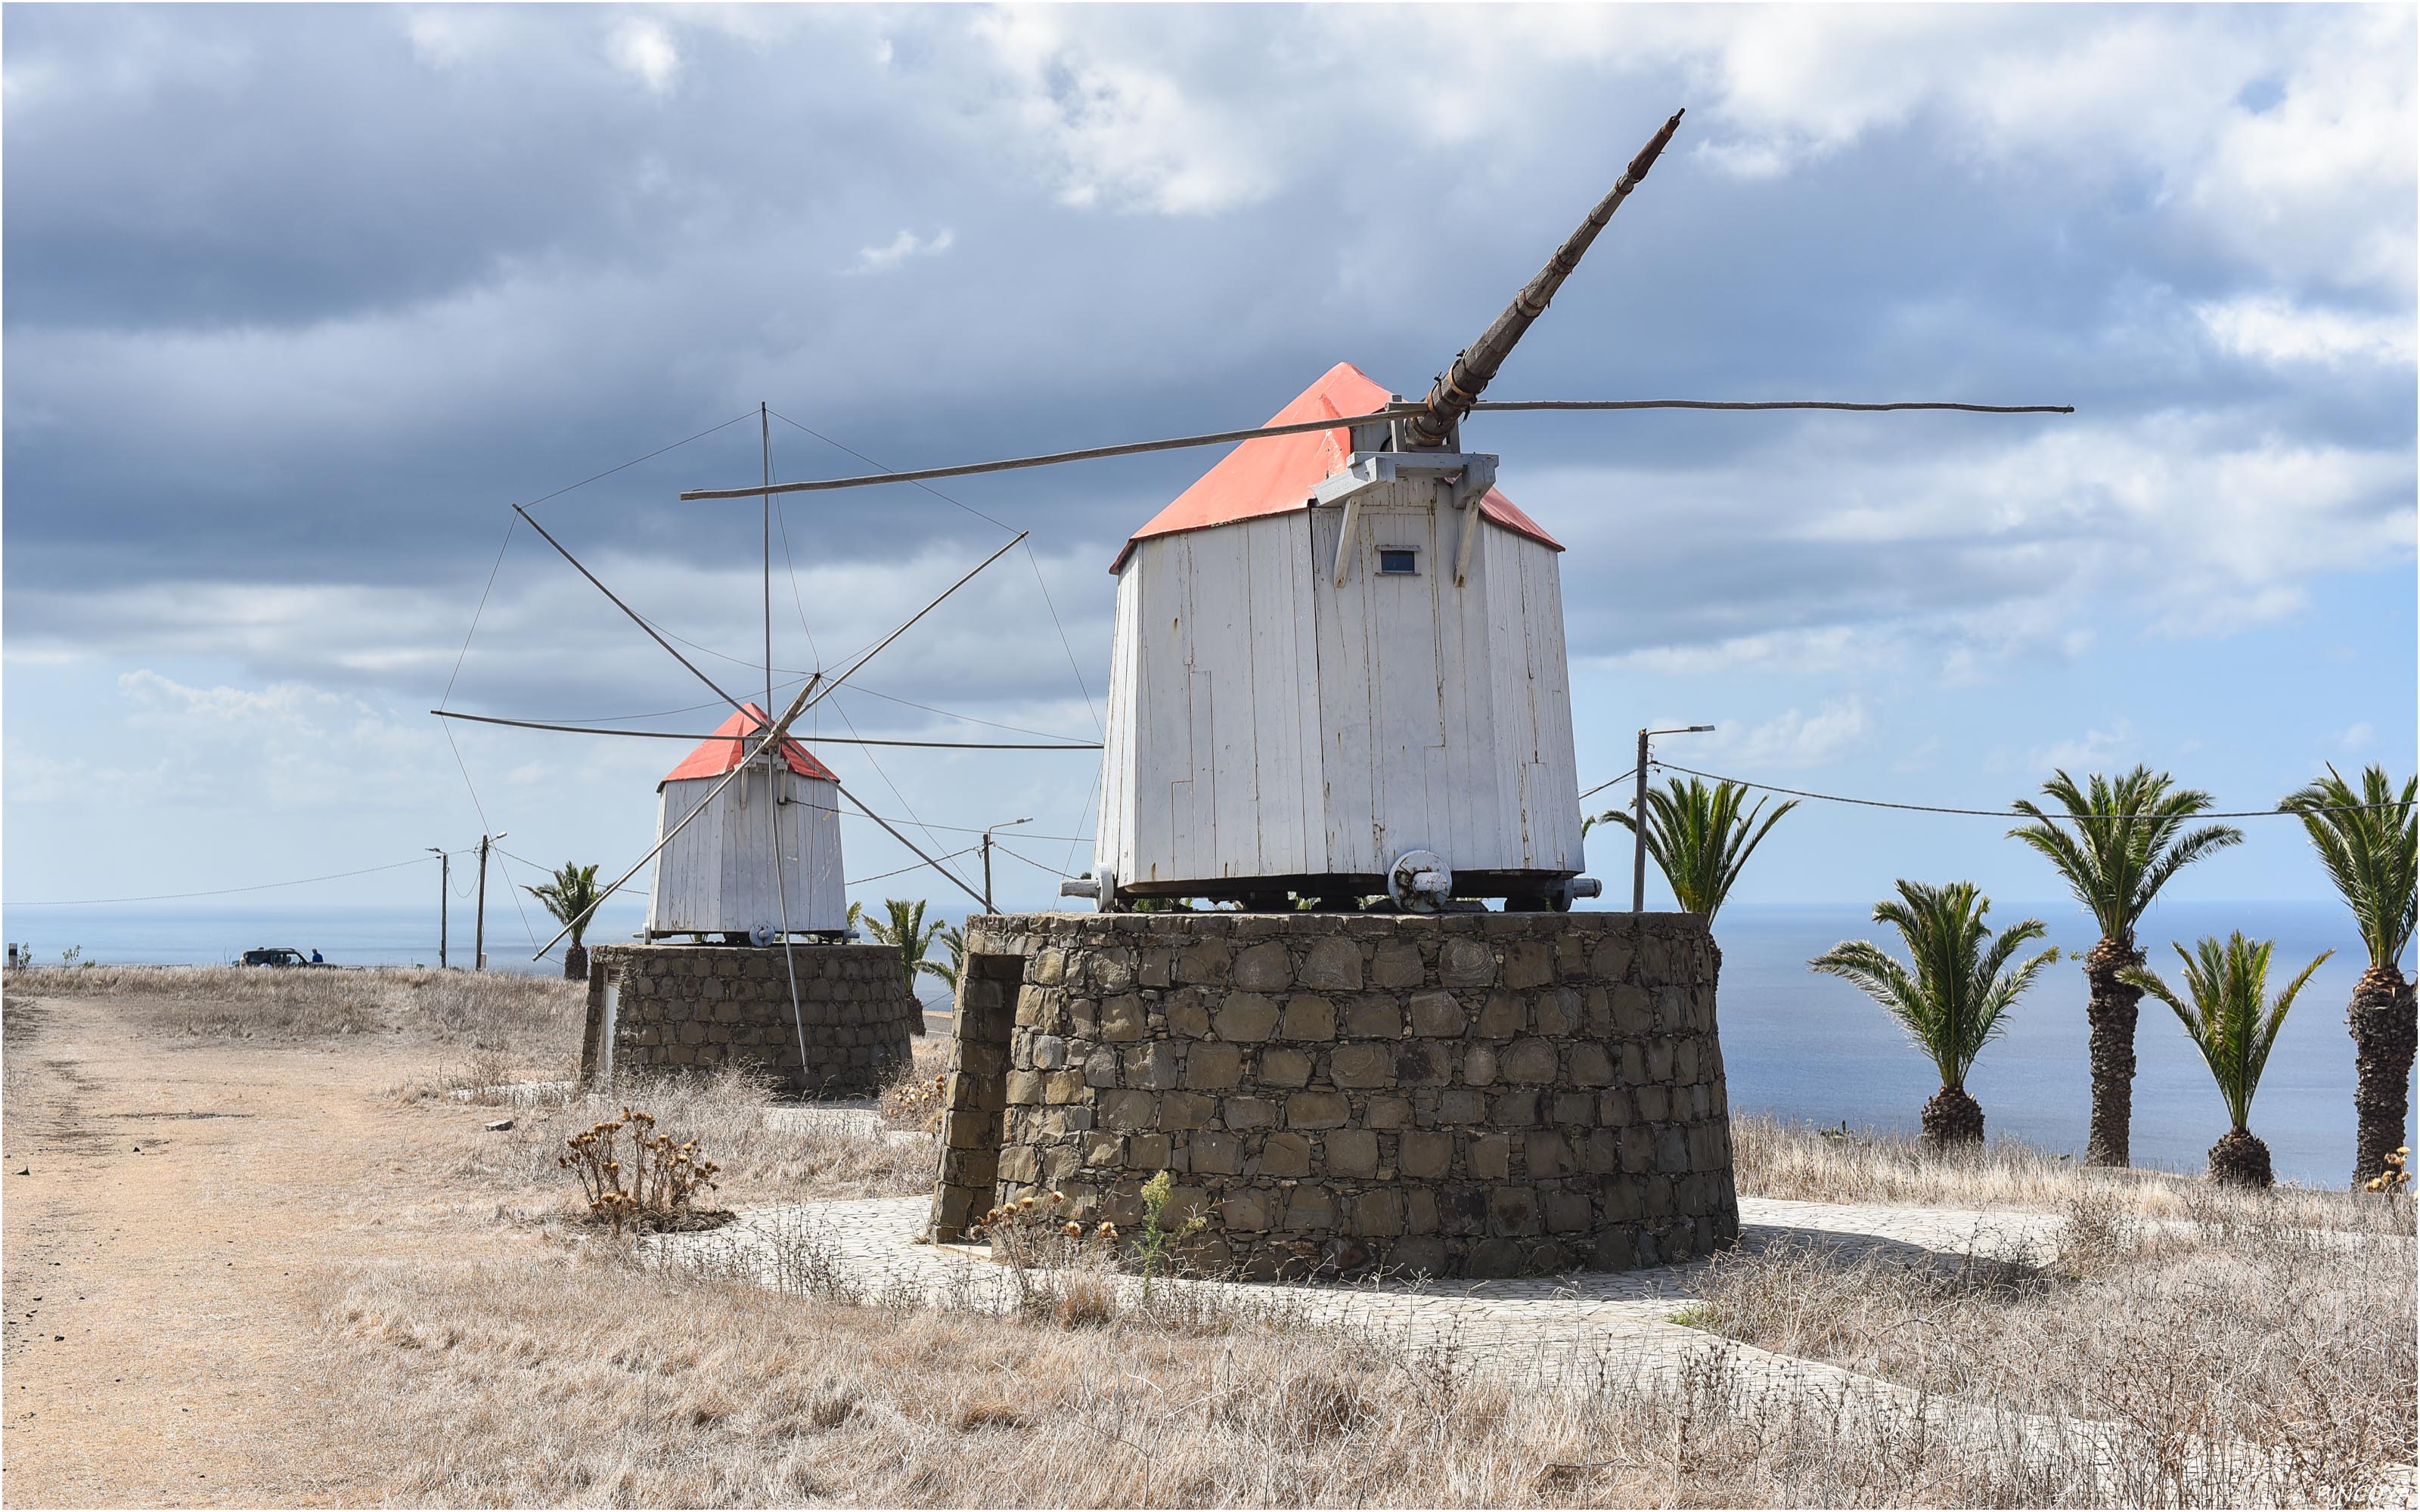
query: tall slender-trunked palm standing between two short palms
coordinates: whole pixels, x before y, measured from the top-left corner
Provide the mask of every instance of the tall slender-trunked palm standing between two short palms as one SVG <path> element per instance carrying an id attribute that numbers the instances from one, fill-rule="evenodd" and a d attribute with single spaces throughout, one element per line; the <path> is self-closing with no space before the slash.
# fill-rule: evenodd
<path id="1" fill-rule="evenodd" d="M 2154 774 L 2149 767 L 2134 767 L 2115 781 L 2093 772 L 2084 789 L 2057 772 L 2042 791 L 2062 813 L 2050 815 L 2018 798 L 2016 810 L 2033 823 L 2009 835 L 2042 852 L 2101 924 L 2101 943 L 2084 956 L 2084 982 L 2091 989 L 2084 1016 L 2093 1031 L 2093 1123 L 2084 1159 L 2093 1166 L 2125 1166 L 2134 1127 L 2134 1018 L 2142 1009 L 2142 989 L 2125 980 L 2130 968 L 2142 965 L 2134 924 L 2168 878 L 2209 852 L 2241 842 L 2243 830 L 2185 830 L 2185 820 L 2209 808 L 2209 793 L 2178 789 L 2166 772 Z"/>

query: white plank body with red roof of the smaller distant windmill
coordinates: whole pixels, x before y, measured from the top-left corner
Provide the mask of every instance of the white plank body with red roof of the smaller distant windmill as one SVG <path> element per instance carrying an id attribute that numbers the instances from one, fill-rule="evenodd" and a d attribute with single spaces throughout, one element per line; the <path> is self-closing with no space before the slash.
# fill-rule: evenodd
<path id="1" fill-rule="evenodd" d="M 765 711 L 745 704 L 656 784 L 658 839 L 709 801 L 765 726 Z M 796 740 L 782 743 L 782 757 L 750 762 L 656 854 L 649 939 L 724 934 L 765 943 L 779 934 L 784 914 L 791 934 L 849 927 L 840 881 L 840 784 Z"/>

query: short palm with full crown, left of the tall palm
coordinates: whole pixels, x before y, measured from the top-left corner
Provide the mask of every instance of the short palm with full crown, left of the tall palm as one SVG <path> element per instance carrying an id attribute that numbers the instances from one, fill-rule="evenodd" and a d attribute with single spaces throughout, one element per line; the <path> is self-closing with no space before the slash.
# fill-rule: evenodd
<path id="1" fill-rule="evenodd" d="M 2050 948 L 2011 968 L 2018 946 L 2042 939 L 2045 924 L 2026 919 L 1992 939 L 1989 912 L 1992 900 L 1975 883 L 1926 888 L 1902 881 L 1897 902 L 1885 898 L 1873 905 L 1873 922 L 1897 927 L 1912 965 L 1861 939 L 1808 960 L 1863 987 L 1931 1057 L 1941 1091 L 1924 1103 L 1924 1142 L 1936 1149 L 1982 1144 L 1982 1106 L 1967 1096 L 1965 1077 L 1982 1048 L 1999 1038 L 2009 1006 L 2059 958 Z"/>

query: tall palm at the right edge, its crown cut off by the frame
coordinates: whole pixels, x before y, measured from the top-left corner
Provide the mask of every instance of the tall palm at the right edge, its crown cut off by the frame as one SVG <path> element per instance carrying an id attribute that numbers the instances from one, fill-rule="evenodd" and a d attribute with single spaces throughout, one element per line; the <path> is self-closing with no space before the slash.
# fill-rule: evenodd
<path id="1" fill-rule="evenodd" d="M 2328 881 L 2352 910 L 2369 951 L 2369 970 L 2352 985 L 2352 1185 L 2386 1168 L 2403 1144 L 2405 1091 L 2413 1074 L 2413 982 L 2403 946 L 2413 939 L 2413 881 L 2420 876 L 2420 779 L 2396 796 L 2386 767 L 2362 772 L 2362 786 L 2328 767 L 2328 777 L 2287 796 L 2280 808 L 2301 815 Z"/>

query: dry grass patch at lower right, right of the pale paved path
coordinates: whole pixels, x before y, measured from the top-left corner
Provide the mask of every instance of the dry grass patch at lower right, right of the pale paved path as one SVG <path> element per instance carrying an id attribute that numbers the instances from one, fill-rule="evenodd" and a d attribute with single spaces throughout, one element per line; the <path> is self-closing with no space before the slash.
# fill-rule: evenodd
<path id="1" fill-rule="evenodd" d="M 2376 1497 L 2420 1449 L 2410 1236 L 2309 1229 L 2214 1188 L 2183 1195 L 2185 1222 L 2125 1198 L 2076 1193 L 2047 1268 L 1825 1243 L 1718 1256 L 1682 1316 L 1934 1396 L 2110 1422 L 2127 1500 Z"/>

